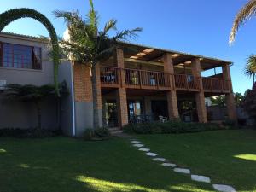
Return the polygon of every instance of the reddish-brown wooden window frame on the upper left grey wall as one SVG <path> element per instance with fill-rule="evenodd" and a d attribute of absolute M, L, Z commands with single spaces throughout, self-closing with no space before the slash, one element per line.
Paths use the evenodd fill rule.
<path fill-rule="evenodd" d="M 18 46 L 24 46 L 24 47 L 27 47 L 27 48 L 30 48 L 31 49 L 31 60 L 32 60 L 32 67 L 15 67 L 14 66 L 14 53 L 13 53 L 13 56 L 12 56 L 12 67 L 6 67 L 6 66 L 3 66 L 3 44 L 11 44 L 12 46 L 14 45 L 18 45 Z M 14 51 L 14 48 L 12 47 L 13 51 Z M 38 65 L 38 67 L 35 67 L 37 64 L 35 62 L 35 54 L 34 54 L 34 49 L 39 49 L 39 52 L 40 52 L 40 63 Z M 6 68 L 12 68 L 12 69 L 24 69 L 24 70 L 42 70 L 42 48 L 41 47 L 37 47 L 37 46 L 31 46 L 31 45 L 25 45 L 25 44 L 12 44 L 12 43 L 8 43 L 8 42 L 2 42 L 0 41 L 0 58 L 1 58 L 1 61 L 0 61 L 0 67 L 6 67 Z"/>

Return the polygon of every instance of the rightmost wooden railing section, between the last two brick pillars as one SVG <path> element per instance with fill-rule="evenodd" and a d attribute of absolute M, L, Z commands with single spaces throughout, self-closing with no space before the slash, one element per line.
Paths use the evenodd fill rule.
<path fill-rule="evenodd" d="M 229 87 L 229 80 L 227 79 L 218 79 L 218 78 L 202 78 L 203 88 L 204 90 L 209 91 L 228 91 L 230 90 Z"/>

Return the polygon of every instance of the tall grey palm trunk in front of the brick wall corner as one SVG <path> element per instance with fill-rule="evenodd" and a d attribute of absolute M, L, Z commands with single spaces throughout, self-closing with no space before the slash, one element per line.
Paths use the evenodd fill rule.
<path fill-rule="evenodd" d="M 93 128 L 96 129 L 100 126 L 98 100 L 97 100 L 96 64 L 93 64 L 91 67 L 91 86 L 92 86 L 92 101 L 93 101 Z"/>

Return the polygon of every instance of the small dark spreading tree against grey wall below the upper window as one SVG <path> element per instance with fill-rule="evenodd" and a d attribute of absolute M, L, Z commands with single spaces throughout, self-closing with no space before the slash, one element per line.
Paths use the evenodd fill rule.
<path fill-rule="evenodd" d="M 41 129 L 42 119 L 42 106 L 41 102 L 47 96 L 55 96 L 55 85 L 45 84 L 36 86 L 34 84 L 7 84 L 3 93 L 4 97 L 8 100 L 18 102 L 32 102 L 37 108 L 38 115 L 38 129 Z"/>

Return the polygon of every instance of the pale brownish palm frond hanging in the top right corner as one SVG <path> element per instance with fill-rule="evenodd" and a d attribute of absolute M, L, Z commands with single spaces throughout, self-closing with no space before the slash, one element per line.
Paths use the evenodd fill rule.
<path fill-rule="evenodd" d="M 256 0 L 250 0 L 236 15 L 231 32 L 230 32 L 230 44 L 235 41 L 236 33 L 240 26 L 245 24 L 253 15 L 256 14 Z"/>

